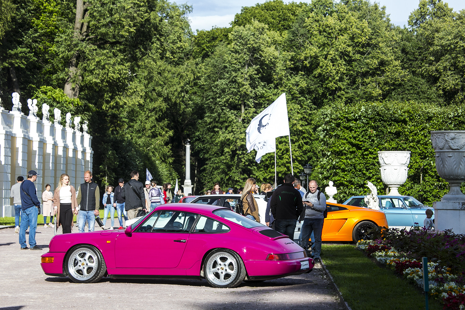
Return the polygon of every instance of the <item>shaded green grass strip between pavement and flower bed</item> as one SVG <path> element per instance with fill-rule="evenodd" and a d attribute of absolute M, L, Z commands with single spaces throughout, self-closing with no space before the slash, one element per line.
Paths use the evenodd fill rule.
<path fill-rule="evenodd" d="M 352 310 L 420 310 L 425 296 L 418 287 L 379 267 L 350 244 L 323 244 L 322 259 Z M 429 299 L 429 309 L 444 304 Z"/>

